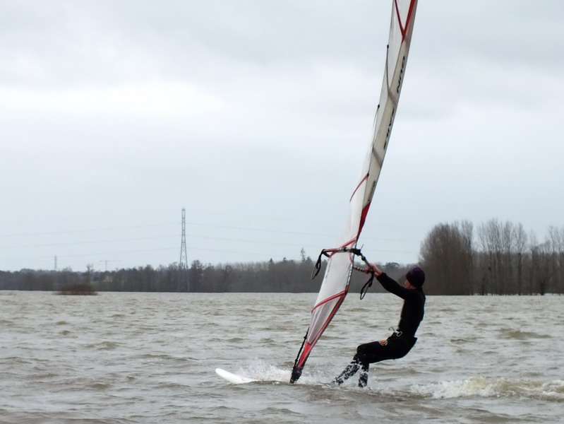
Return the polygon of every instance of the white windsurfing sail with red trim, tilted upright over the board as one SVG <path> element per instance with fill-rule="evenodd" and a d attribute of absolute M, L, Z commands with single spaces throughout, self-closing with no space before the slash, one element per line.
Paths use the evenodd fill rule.
<path fill-rule="evenodd" d="M 349 213 L 336 247 L 324 249 L 329 259 L 325 276 L 319 290 L 311 322 L 294 363 L 290 382 L 301 376 L 311 349 L 316 345 L 323 331 L 337 313 L 349 290 L 349 282 L 354 267 L 354 257 L 361 255 L 356 248 L 360 233 L 372 202 L 376 182 L 384 161 L 390 133 L 397 111 L 397 102 L 404 79 L 409 44 L 412 38 L 417 0 L 392 0 L 392 21 L 384 69 L 380 102 L 376 110 L 373 139 L 362 167 L 360 182 L 355 187 L 349 201 Z M 321 258 L 321 255 L 320 255 Z M 366 262 L 366 259 L 361 256 Z"/>

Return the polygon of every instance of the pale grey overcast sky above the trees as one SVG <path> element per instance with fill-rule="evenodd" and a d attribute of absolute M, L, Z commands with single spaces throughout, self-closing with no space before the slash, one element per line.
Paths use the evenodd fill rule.
<path fill-rule="evenodd" d="M 0 270 L 317 257 L 371 141 L 390 0 L 0 0 Z M 420 0 L 360 243 L 564 227 L 564 3 Z"/>

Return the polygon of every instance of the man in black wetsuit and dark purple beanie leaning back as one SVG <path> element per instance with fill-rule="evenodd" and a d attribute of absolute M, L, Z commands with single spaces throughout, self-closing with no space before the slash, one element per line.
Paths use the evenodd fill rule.
<path fill-rule="evenodd" d="M 425 282 L 424 271 L 419 266 L 411 269 L 407 273 L 404 287 L 402 287 L 383 273 L 378 266 L 371 264 L 371 268 L 383 288 L 404 300 L 400 324 L 397 325 L 397 330 L 387 340 L 373 341 L 356 348 L 356 355 L 352 358 L 352 363 L 344 369 L 339 377 L 333 380 L 333 383 L 336 384 L 344 383 L 346 379 L 352 377 L 361 369 L 359 387 L 366 387 L 366 384 L 368 384 L 368 367 L 371 363 L 403 358 L 417 341 L 415 332 L 423 319 L 425 308 L 425 293 L 421 288 Z"/>

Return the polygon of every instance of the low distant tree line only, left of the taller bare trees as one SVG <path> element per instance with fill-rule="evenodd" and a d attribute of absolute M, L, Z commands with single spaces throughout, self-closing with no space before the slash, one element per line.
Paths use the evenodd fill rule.
<path fill-rule="evenodd" d="M 302 251 L 303 252 L 303 251 Z M 193 292 L 193 293 L 316 293 L 327 262 L 322 261 L 319 275 L 311 278 L 314 262 L 310 257 L 299 261 L 203 264 L 193 261 L 189 269 L 177 263 L 169 266 L 143 266 L 116 271 L 85 272 L 71 269 L 42 271 L 24 269 L 16 272 L 0 271 L 0 290 L 47 290 L 64 293 L 66 288 L 88 284 L 93 290 L 125 292 Z M 396 263 L 385 264 L 384 269 L 395 278 L 407 272 Z M 351 291 L 360 291 L 368 281 L 364 273 L 354 272 Z M 381 290 L 378 283 L 372 290 Z"/>

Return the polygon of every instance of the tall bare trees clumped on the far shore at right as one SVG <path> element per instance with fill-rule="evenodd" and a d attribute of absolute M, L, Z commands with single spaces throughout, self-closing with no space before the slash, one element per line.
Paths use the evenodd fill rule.
<path fill-rule="evenodd" d="M 421 263 L 446 295 L 564 293 L 564 228 L 549 227 L 543 242 L 521 224 L 488 220 L 474 231 L 462 222 L 436 225 L 421 244 Z"/>

